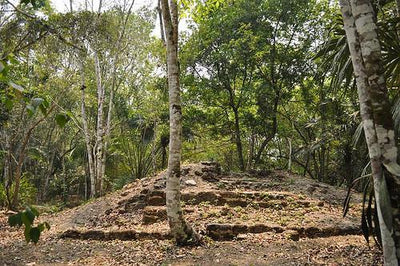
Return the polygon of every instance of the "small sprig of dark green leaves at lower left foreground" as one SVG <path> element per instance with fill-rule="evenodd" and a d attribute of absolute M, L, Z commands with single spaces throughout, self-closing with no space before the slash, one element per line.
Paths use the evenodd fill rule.
<path fill-rule="evenodd" d="M 40 238 L 40 234 L 45 230 L 50 230 L 50 225 L 47 222 L 39 223 L 34 226 L 34 220 L 39 216 L 39 212 L 30 206 L 27 206 L 24 211 L 8 217 L 8 224 L 10 226 L 25 226 L 24 236 L 27 243 L 37 243 Z"/>

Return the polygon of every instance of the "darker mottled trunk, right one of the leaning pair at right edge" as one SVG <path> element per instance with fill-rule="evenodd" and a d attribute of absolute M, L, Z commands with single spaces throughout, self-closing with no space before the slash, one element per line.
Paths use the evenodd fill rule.
<path fill-rule="evenodd" d="M 390 184 L 388 190 L 392 205 L 391 214 L 393 216 L 392 237 L 396 247 L 397 261 L 400 262 L 400 166 L 397 164 L 398 149 L 394 135 L 391 104 L 384 76 L 385 70 L 383 68 L 375 14 L 370 1 L 352 1 L 351 7 L 355 25 L 360 35 L 361 54 L 370 86 L 375 130 L 378 144 L 381 148 L 381 162 L 385 170 L 388 170 L 388 172 L 385 171 L 385 177 L 386 182 Z"/>

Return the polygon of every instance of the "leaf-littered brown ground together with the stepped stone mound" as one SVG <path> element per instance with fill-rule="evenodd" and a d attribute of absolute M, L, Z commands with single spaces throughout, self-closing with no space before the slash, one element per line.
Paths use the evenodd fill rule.
<path fill-rule="evenodd" d="M 381 265 L 360 232 L 361 197 L 346 218 L 346 191 L 285 171 L 221 173 L 215 163 L 182 167 L 186 219 L 203 236 L 176 247 L 168 233 L 165 172 L 76 208 L 43 214 L 37 245 L 0 212 L 2 265 Z"/>

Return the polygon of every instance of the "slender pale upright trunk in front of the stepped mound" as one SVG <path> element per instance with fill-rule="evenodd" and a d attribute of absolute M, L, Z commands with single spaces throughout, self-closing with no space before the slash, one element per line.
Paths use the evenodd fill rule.
<path fill-rule="evenodd" d="M 180 161 L 182 146 L 182 109 L 178 65 L 178 7 L 175 0 L 161 0 L 167 46 L 170 141 L 166 205 L 168 222 L 176 243 L 197 243 L 199 237 L 185 221 L 180 203 Z"/>

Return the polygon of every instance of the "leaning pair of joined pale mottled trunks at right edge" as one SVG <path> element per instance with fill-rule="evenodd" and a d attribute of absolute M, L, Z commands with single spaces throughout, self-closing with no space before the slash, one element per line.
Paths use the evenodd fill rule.
<path fill-rule="evenodd" d="M 387 187 L 383 166 L 398 175 L 397 148 L 394 142 L 393 121 L 381 65 L 380 44 L 376 34 L 374 13 L 370 1 L 340 0 L 344 28 L 356 77 L 360 113 L 368 145 L 374 180 L 375 199 L 382 236 L 385 265 L 398 265 L 399 231 L 397 186 Z M 393 182 L 396 184 L 396 182 Z M 393 203 L 393 200 L 392 200 Z M 398 199 L 397 199 L 397 204 Z M 392 207 L 394 209 L 392 210 Z M 393 216 L 393 213 L 395 214 Z M 393 219 L 394 218 L 394 219 Z M 396 252 L 397 248 L 397 252 Z M 397 253 L 397 254 L 396 254 Z"/>

